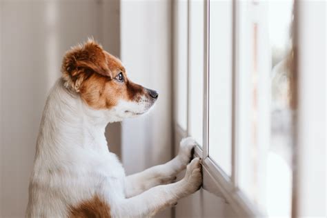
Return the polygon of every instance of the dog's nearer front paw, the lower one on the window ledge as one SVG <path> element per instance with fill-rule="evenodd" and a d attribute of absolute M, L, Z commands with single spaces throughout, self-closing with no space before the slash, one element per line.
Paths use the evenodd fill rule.
<path fill-rule="evenodd" d="M 188 194 L 199 190 L 202 184 L 202 170 L 201 159 L 198 157 L 192 159 L 186 168 L 186 175 L 184 181 L 186 182 L 186 190 Z"/>

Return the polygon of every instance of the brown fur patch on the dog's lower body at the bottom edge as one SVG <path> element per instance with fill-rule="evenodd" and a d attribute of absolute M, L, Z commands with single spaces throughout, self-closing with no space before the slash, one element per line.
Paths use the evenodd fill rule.
<path fill-rule="evenodd" d="M 70 218 L 110 218 L 110 206 L 97 195 L 70 208 Z"/>

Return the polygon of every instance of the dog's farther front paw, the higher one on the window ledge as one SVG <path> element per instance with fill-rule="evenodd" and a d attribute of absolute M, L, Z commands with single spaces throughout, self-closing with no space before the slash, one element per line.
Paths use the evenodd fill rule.
<path fill-rule="evenodd" d="M 197 145 L 197 142 L 192 137 L 187 137 L 185 139 L 181 139 L 181 143 L 179 144 L 178 156 L 179 156 L 179 159 L 181 159 L 181 163 L 183 165 L 186 166 L 192 160 L 194 148 L 196 145 Z"/>

